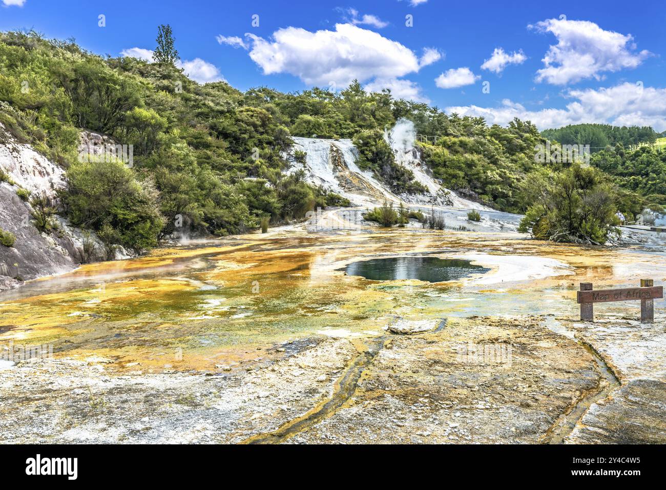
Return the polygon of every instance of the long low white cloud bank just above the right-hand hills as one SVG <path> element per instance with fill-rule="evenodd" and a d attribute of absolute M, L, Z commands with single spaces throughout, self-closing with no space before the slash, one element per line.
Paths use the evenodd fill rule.
<path fill-rule="evenodd" d="M 447 107 L 448 113 L 485 117 L 490 124 L 505 125 L 514 117 L 532 121 L 539 129 L 567 124 L 606 123 L 617 126 L 652 126 L 655 131 L 666 130 L 666 89 L 643 87 L 641 84 L 621 83 L 614 87 L 570 90 L 571 99 L 563 109 L 529 111 L 519 103 L 504 99 L 499 107 L 476 105 Z"/>

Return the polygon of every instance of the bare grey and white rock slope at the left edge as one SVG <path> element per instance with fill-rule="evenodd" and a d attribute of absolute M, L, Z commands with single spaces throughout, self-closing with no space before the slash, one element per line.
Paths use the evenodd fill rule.
<path fill-rule="evenodd" d="M 102 138 L 95 133 L 82 134 L 82 144 Z M 106 260 L 101 240 L 71 226 L 63 217 L 54 217 L 54 231 L 39 232 L 32 222 L 31 205 L 17 191 L 25 189 L 31 195 L 55 199 L 57 189 L 65 186 L 65 171 L 30 145 L 19 143 L 1 124 L 0 141 L 0 169 L 9 177 L 0 183 L 0 229 L 16 237 L 13 247 L 0 244 L 0 291 L 21 281 L 71 271 L 85 261 Z M 89 253 L 84 252 L 91 247 Z M 111 258 L 126 257 L 129 254 L 120 248 Z"/>

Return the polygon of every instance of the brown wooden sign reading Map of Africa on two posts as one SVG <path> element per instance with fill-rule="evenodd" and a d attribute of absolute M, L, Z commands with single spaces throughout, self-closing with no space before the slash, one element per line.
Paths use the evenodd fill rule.
<path fill-rule="evenodd" d="M 641 287 L 625 289 L 598 289 L 594 291 L 592 283 L 581 283 L 577 291 L 577 302 L 581 305 L 581 320 L 594 321 L 594 303 L 607 301 L 641 301 L 641 323 L 655 321 L 654 299 L 663 298 L 663 287 L 655 286 L 652 279 L 641 279 Z"/>

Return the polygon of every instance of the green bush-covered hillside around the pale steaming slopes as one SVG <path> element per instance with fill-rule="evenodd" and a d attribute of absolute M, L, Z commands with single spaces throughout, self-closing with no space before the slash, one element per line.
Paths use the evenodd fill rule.
<path fill-rule="evenodd" d="M 302 175 L 284 173 L 304 156 L 293 150 L 292 135 L 354 139 L 360 165 L 396 191 L 418 192 L 420 185 L 396 164 L 383 139 L 384 129 L 403 117 L 418 133 L 438 137 L 422 148 L 446 187 L 502 211 L 525 212 L 537 200 L 529 184 L 545 179 L 554 185 L 571 165 L 535 159 L 535 146 L 545 139 L 528 121 L 488 126 L 483 118 L 446 114 L 388 91 L 366 93 L 356 81 L 339 93 L 316 87 L 242 92 L 224 82 L 200 85 L 166 61 L 101 57 L 74 41 L 0 33 L 0 122 L 67 169 L 69 187 L 53 203 L 59 213 L 109 243 L 135 249 L 157 245 L 174 230 L 176 216 L 193 233 L 226 235 L 255 229 L 262 219 L 284 223 L 314 207 L 345 205 Z M 81 129 L 133 145 L 133 167 L 79 161 Z M 594 131 L 602 137 L 599 145 L 654 133 Z M 613 209 L 635 214 L 649 199 L 663 203 L 665 153 L 602 153 L 594 165 L 612 177 L 589 177 L 593 185 L 603 184 Z M 577 199 L 576 206 L 587 206 Z M 581 219 L 567 226 L 582 226 Z"/>

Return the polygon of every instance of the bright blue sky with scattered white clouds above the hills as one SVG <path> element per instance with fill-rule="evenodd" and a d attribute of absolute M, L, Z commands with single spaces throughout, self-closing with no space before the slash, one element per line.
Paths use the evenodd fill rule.
<path fill-rule="evenodd" d="M 198 81 L 300 91 L 358 78 L 489 122 L 666 130 L 662 2 L 0 0 L 0 30 L 99 54 L 149 56 L 161 23 Z"/>

